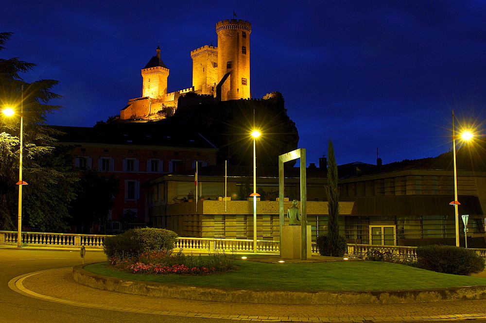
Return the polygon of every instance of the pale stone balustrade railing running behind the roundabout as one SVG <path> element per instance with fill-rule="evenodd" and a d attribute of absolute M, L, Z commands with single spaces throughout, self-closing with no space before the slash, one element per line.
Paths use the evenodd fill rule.
<path fill-rule="evenodd" d="M 36 247 L 81 247 L 102 249 L 103 240 L 107 235 L 81 235 L 69 233 L 22 232 L 22 244 Z M 0 231 L 0 244 L 17 244 L 17 231 Z M 257 252 L 265 254 L 278 254 L 279 242 L 275 240 L 257 240 Z M 225 239 L 225 238 L 184 238 L 179 237 L 174 250 L 185 251 L 225 251 L 236 253 L 252 253 L 253 240 Z M 381 253 L 390 252 L 400 259 L 416 260 L 417 247 L 407 246 L 380 246 L 368 244 L 347 244 L 347 256 L 352 258 L 365 258 L 374 250 Z M 478 255 L 486 258 L 486 249 L 473 249 Z M 312 253 L 318 254 L 317 245 L 312 242 Z"/>

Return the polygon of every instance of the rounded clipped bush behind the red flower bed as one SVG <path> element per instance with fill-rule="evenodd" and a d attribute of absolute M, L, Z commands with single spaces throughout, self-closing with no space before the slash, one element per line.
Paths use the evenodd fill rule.
<path fill-rule="evenodd" d="M 106 237 L 103 241 L 104 253 L 108 258 L 116 255 L 122 258 L 137 257 L 149 251 L 172 253 L 177 234 L 174 231 L 156 228 L 128 230 L 120 235 Z"/>

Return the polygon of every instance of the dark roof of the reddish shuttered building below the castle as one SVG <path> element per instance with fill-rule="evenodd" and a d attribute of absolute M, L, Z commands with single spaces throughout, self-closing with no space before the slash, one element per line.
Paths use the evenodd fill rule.
<path fill-rule="evenodd" d="M 115 145 L 142 145 L 216 150 L 206 138 L 198 133 L 165 132 L 161 127 L 150 127 L 147 123 L 127 123 L 95 127 L 52 126 L 64 134 L 56 139 L 66 143 L 99 143 Z"/>

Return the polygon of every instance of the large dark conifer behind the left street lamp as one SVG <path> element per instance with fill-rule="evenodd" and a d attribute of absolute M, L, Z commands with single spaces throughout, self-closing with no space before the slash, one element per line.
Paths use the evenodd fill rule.
<path fill-rule="evenodd" d="M 4 45 L 12 33 L 0 33 Z M 3 46 L 0 46 L 0 50 Z M 48 104 L 61 98 L 53 93 L 54 80 L 25 82 L 21 73 L 35 67 L 17 57 L 0 58 L 0 106 L 10 106 L 17 113 L 0 117 L 0 229 L 13 230 L 17 222 L 20 107 L 23 110 L 23 224 L 42 231 L 65 231 L 68 205 L 74 197 L 76 182 L 67 151 L 54 148 L 58 132 L 46 124 L 46 116 L 61 108 Z"/>

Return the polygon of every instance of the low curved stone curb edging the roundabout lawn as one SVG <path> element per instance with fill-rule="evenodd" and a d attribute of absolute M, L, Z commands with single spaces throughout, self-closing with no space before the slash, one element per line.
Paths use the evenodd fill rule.
<path fill-rule="evenodd" d="M 254 304 L 345 305 L 448 302 L 486 299 L 486 286 L 373 291 L 237 289 L 229 287 L 177 285 L 120 279 L 88 272 L 83 269 L 86 265 L 78 265 L 74 267 L 72 269 L 72 276 L 77 283 L 91 288 L 141 296 L 197 301 Z"/>

